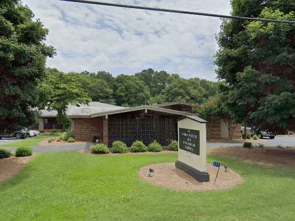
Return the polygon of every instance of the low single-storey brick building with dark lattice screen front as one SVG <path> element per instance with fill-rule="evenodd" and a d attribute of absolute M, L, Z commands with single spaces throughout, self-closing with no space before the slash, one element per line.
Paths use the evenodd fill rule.
<path fill-rule="evenodd" d="M 114 141 L 123 141 L 130 146 L 135 140 L 149 144 L 157 140 L 161 145 L 168 145 L 170 140 L 177 140 L 177 119 L 182 116 L 196 116 L 194 104 L 173 102 L 152 106 L 120 107 L 100 102 L 88 105 L 69 106 L 67 117 L 73 121 L 75 140 L 89 142 L 92 136 L 109 147 Z M 42 110 L 39 129 L 51 131 L 59 129 L 57 113 Z M 212 125 L 212 126 L 211 126 Z M 222 121 L 209 122 L 210 137 L 215 140 L 228 138 L 227 128 Z M 214 134 L 214 136 L 212 134 Z M 227 137 L 226 137 L 227 136 Z M 240 132 L 234 139 L 240 138 Z"/>

